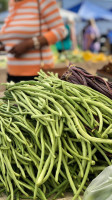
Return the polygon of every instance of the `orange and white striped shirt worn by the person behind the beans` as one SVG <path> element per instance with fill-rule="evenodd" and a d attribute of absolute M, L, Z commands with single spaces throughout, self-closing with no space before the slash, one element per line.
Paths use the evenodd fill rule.
<path fill-rule="evenodd" d="M 42 48 L 44 68 L 54 66 L 50 45 L 65 37 L 66 31 L 55 0 L 39 0 L 41 10 L 41 31 L 49 46 Z M 25 39 L 40 34 L 37 0 L 10 0 L 9 16 L 0 32 L 0 41 L 8 52 Z M 20 58 L 8 53 L 8 73 L 12 76 L 35 76 L 41 68 L 39 50 L 30 50 Z"/>

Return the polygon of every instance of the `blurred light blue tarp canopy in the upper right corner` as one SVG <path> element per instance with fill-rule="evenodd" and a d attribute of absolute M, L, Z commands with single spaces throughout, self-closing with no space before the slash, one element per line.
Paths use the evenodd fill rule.
<path fill-rule="evenodd" d="M 79 9 L 78 15 L 84 19 L 105 19 L 112 20 L 112 13 L 102 7 L 97 6 L 96 4 L 91 3 L 90 1 L 85 1 L 81 8 Z"/>

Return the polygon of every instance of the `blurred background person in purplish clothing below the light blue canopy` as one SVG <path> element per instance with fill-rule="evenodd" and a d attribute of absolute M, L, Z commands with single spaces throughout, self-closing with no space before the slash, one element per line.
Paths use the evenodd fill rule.
<path fill-rule="evenodd" d="M 92 52 L 100 51 L 100 37 L 99 30 L 95 24 L 95 21 L 89 20 L 86 27 L 83 29 L 83 49 L 90 50 Z"/>

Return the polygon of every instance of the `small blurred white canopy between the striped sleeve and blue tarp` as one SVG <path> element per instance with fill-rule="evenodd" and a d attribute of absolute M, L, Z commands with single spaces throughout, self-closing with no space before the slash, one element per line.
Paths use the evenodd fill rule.
<path fill-rule="evenodd" d="M 70 20 L 78 18 L 78 15 L 76 13 L 64 9 L 60 9 L 60 14 L 63 18 L 68 18 Z"/>

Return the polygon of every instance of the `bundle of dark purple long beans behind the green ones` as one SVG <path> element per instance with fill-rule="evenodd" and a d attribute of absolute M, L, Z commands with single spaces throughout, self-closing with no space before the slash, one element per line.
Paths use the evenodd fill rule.
<path fill-rule="evenodd" d="M 93 76 L 83 68 L 70 65 L 61 79 L 70 83 L 89 86 L 112 99 L 112 82 L 105 81 L 100 76 Z"/>

